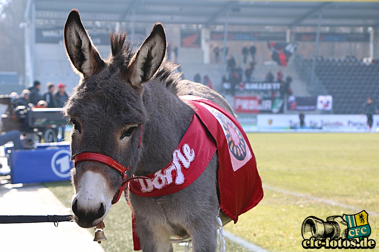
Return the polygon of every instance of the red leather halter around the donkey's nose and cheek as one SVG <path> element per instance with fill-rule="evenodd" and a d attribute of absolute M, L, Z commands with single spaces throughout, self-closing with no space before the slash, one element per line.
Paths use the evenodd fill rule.
<path fill-rule="evenodd" d="M 139 136 L 138 148 L 141 147 L 141 140 L 142 140 L 142 125 L 141 125 L 141 135 Z M 117 171 L 119 171 L 121 173 L 122 182 L 121 182 L 121 185 L 118 188 L 116 194 L 114 194 L 114 196 L 113 196 L 112 205 L 116 204 L 119 201 L 121 194 L 122 194 L 122 191 L 125 190 L 128 183 L 130 182 L 130 180 L 146 179 L 146 177 L 131 177 L 131 178 L 127 179 L 127 175 L 125 174 L 125 172 L 127 170 L 129 170 L 129 166 L 125 167 L 124 165 L 122 165 L 121 163 L 112 159 L 111 157 L 105 156 L 105 155 L 100 154 L 100 153 L 82 152 L 82 153 L 77 154 L 74 158 L 74 167 L 76 167 L 78 165 L 78 163 L 84 162 L 84 161 L 92 161 L 92 162 L 102 163 L 104 165 L 111 166 L 112 168 L 116 169 Z"/>

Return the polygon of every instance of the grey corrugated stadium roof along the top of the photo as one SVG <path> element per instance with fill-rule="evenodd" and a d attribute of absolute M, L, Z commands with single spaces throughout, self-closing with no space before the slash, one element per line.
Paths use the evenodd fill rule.
<path fill-rule="evenodd" d="M 379 2 L 222 0 L 35 0 L 36 19 L 64 23 L 71 9 L 84 21 L 252 26 L 378 26 Z M 133 11 L 134 10 L 134 11 Z"/>

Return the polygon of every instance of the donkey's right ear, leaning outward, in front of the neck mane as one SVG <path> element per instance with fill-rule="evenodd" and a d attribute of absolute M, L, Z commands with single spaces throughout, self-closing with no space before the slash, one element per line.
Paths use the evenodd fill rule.
<path fill-rule="evenodd" d="M 133 55 L 127 68 L 127 78 L 137 91 L 141 84 L 157 72 L 166 54 L 166 34 L 161 23 L 155 23 L 149 37 Z"/>

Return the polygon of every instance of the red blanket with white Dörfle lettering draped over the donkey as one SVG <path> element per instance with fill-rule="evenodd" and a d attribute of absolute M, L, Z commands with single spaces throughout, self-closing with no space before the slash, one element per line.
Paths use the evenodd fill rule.
<path fill-rule="evenodd" d="M 198 96 L 181 98 L 193 107 L 196 116 L 173 152 L 171 162 L 148 175 L 150 179 L 132 180 L 129 190 L 143 197 L 180 191 L 200 176 L 217 149 L 220 208 L 237 222 L 240 214 L 263 198 L 262 182 L 249 140 L 238 121 L 217 104 Z M 216 140 L 216 146 L 203 124 Z M 134 224 L 133 220 L 134 249 L 140 250 Z"/>

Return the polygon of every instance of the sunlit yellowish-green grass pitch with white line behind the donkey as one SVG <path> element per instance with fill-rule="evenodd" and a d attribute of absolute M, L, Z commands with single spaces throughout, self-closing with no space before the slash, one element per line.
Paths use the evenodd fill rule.
<path fill-rule="evenodd" d="M 248 137 L 263 184 L 379 213 L 379 134 L 251 133 Z M 68 182 L 45 186 L 70 206 L 73 191 Z M 325 220 L 343 213 L 356 212 L 265 189 L 257 207 L 225 229 L 269 251 L 304 251 L 301 224 L 307 216 Z M 368 220 L 370 239 L 379 242 L 379 217 L 369 215 Z M 113 205 L 105 222 L 108 240 L 102 243 L 104 249 L 132 251 L 126 202 Z M 184 251 L 179 246 L 174 250 Z M 247 250 L 227 241 L 227 251 Z"/>

